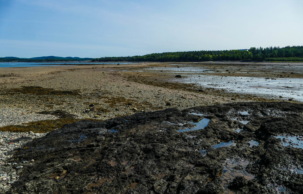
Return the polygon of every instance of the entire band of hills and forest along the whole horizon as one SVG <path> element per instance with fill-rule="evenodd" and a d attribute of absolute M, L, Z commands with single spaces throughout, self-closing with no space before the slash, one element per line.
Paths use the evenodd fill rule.
<path fill-rule="evenodd" d="M 203 62 L 203 61 L 303 61 L 303 46 L 287 47 L 266 47 L 238 50 L 200 50 L 200 51 L 180 51 L 151 53 L 146 55 L 135 55 L 128 57 L 100 57 L 100 58 L 80 58 L 80 57 L 3 57 L 0 62 L 55 62 L 55 61 L 92 61 L 92 62 L 113 62 L 113 61 L 148 61 L 148 62 Z"/>

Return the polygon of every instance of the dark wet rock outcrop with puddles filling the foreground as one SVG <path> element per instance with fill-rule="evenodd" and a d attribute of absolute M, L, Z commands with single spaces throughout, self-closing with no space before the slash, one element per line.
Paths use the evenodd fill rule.
<path fill-rule="evenodd" d="M 303 193 L 302 135 L 288 102 L 76 121 L 12 151 L 8 193 Z"/>

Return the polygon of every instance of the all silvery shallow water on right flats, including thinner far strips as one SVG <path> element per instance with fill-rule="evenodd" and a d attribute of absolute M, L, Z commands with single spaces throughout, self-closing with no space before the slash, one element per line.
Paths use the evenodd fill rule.
<path fill-rule="evenodd" d="M 172 64 L 174 65 L 174 64 Z M 206 88 L 224 89 L 227 91 L 233 91 L 243 94 L 257 94 L 267 98 L 279 98 L 281 95 L 283 98 L 294 98 L 299 101 L 303 101 L 303 79 L 300 78 L 264 78 L 262 77 L 240 77 L 235 75 L 230 76 L 218 76 L 208 75 L 207 73 L 226 73 L 228 71 L 222 71 L 222 69 L 207 68 L 199 66 L 186 66 L 176 64 L 177 67 L 163 67 L 163 68 L 148 68 L 147 70 L 163 71 L 163 73 L 180 73 L 183 78 L 176 79 L 177 82 L 193 83 Z M 280 66 L 281 67 L 281 66 Z M 282 66 L 281 68 L 285 68 Z M 245 69 L 251 68 L 251 70 L 241 70 L 238 67 L 227 67 L 229 70 L 234 69 L 230 73 L 255 73 L 254 67 L 245 67 Z M 272 68 L 272 67 L 271 67 Z M 302 66 L 297 66 L 297 69 L 301 69 Z M 266 68 L 265 68 L 266 69 Z M 280 69 L 281 70 L 281 69 Z M 285 69 L 287 71 L 289 69 Z M 282 73 L 276 74 L 285 74 Z M 198 73 L 197 75 L 192 75 Z M 260 73 L 260 72 L 258 72 Z M 186 77 L 185 77 L 186 76 Z"/>

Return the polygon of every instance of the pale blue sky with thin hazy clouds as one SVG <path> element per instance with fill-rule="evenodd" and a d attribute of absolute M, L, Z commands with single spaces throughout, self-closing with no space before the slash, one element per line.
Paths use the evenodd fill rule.
<path fill-rule="evenodd" d="M 303 45 L 301 0 L 0 0 L 0 57 Z"/>

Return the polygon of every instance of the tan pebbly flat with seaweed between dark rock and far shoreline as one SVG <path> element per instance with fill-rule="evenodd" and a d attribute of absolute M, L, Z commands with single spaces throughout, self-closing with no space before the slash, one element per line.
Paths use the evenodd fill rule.
<path fill-rule="evenodd" d="M 171 64 L 134 63 L 120 66 L 104 64 L 2 68 L 0 103 L 2 104 L 1 112 L 5 112 L 5 116 L 2 115 L 0 126 L 41 120 L 43 117 L 50 118 L 49 115 L 36 114 L 41 111 L 64 110 L 77 115 L 80 119 L 104 120 L 115 116 L 130 115 L 141 110 L 154 111 L 168 107 L 182 110 L 226 102 L 288 101 L 288 98 L 239 94 L 226 89 L 202 87 L 195 83 L 182 82 L 182 79 L 186 78 L 182 72 L 153 70 L 178 68 L 178 65 Z M 180 67 L 207 67 L 207 71 L 203 74 L 226 76 L 231 80 L 233 76 L 276 78 L 281 75 L 286 78 L 302 78 L 303 68 L 292 68 L 288 72 L 285 72 L 285 68 L 283 69 L 285 66 L 298 65 L 302 64 L 180 63 Z M 181 74 L 184 78 L 175 78 L 177 74 Z M 198 73 L 195 74 L 198 76 Z M 204 80 L 204 82 L 208 81 Z M 31 90 L 32 86 L 42 88 Z M 167 106 L 167 103 L 170 106 Z M 91 104 L 95 106 L 89 107 Z M 134 108 L 137 110 L 133 110 Z M 33 115 L 38 118 L 35 119 Z M 10 118 L 10 121 L 5 118 Z M 18 121 L 14 118 L 18 118 Z"/>

